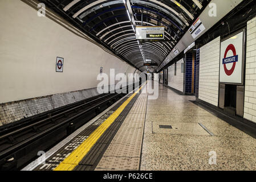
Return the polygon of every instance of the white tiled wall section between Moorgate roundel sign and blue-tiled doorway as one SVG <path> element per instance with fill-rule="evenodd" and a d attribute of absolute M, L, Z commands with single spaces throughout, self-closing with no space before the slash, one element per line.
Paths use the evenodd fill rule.
<path fill-rule="evenodd" d="M 220 37 L 200 48 L 199 99 L 218 106 Z"/>

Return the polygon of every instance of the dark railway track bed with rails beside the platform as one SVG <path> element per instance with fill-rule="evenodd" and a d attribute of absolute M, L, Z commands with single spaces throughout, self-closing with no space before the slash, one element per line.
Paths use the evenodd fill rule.
<path fill-rule="evenodd" d="M 0 169 L 21 169 L 124 95 L 101 94 L 0 127 Z"/>

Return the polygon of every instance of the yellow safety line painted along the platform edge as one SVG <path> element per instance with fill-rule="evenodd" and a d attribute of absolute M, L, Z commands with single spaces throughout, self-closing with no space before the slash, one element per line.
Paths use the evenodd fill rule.
<path fill-rule="evenodd" d="M 144 84 L 145 85 L 145 84 Z M 144 86 L 143 85 L 143 86 Z M 143 88 L 141 86 L 141 88 Z M 141 90 L 137 90 L 132 94 L 111 116 L 109 116 L 97 129 L 86 139 L 78 148 L 76 148 L 71 154 L 63 160 L 62 163 L 57 166 L 54 171 L 72 171 L 79 162 L 87 155 L 101 135 L 108 129 L 108 127 L 115 121 L 124 108 L 129 104 L 133 97 Z"/>

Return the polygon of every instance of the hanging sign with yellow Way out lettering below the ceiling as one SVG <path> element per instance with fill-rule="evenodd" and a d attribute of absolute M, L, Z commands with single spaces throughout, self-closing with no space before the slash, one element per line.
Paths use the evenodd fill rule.
<path fill-rule="evenodd" d="M 136 27 L 137 40 L 164 40 L 164 27 L 143 26 Z"/>

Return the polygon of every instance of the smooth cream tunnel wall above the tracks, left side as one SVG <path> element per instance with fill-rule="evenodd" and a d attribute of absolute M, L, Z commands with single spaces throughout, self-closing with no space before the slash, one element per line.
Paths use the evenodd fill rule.
<path fill-rule="evenodd" d="M 100 67 L 108 75 L 135 72 L 22 1 L 0 1 L 0 16 L 0 103 L 95 88 Z M 63 73 L 55 72 L 57 56 Z"/>

